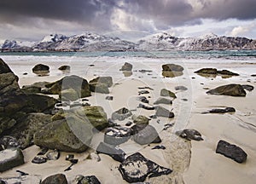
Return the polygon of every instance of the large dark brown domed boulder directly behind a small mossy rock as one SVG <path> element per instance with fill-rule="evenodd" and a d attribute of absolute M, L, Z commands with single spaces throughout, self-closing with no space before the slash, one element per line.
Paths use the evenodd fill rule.
<path fill-rule="evenodd" d="M 61 80 L 55 83 L 49 83 L 45 85 L 47 89 L 46 93 L 53 95 L 61 95 L 61 91 L 65 89 L 74 89 L 79 98 L 84 98 L 90 96 L 89 83 L 78 76 L 67 76 L 61 78 Z"/>

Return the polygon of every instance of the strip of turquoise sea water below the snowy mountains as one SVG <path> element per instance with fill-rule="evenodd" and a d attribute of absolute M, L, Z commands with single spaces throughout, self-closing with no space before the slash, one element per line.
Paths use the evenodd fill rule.
<path fill-rule="evenodd" d="M 256 50 L 231 50 L 231 51 L 125 51 L 125 52 L 24 52 L 24 53 L 0 53 L 1 55 L 20 55 L 20 56 L 77 56 L 77 57 L 149 57 L 149 58 L 226 58 L 226 59 L 256 59 Z"/>

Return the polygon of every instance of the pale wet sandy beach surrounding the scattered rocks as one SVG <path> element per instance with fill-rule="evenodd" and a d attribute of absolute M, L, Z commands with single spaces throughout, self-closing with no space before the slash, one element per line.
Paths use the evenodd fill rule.
<path fill-rule="evenodd" d="M 96 77 L 111 76 L 113 86 L 109 88 L 108 95 L 113 96 L 113 101 L 106 101 L 108 95 L 92 93 L 86 99 L 92 106 L 102 106 L 108 118 L 119 108 L 126 107 L 132 110 L 132 114 L 149 117 L 154 115 L 154 110 L 137 108 L 138 93 L 143 87 L 150 87 L 149 93 L 143 96 L 148 98 L 149 105 L 153 105 L 160 97 L 160 89 L 169 89 L 177 95 L 172 106 L 161 105 L 174 112 L 174 118 L 151 119 L 150 123 L 158 131 L 162 142 L 140 146 L 134 141 L 127 141 L 119 147 L 126 155 L 141 152 L 145 158 L 154 161 L 172 171 L 170 175 L 147 178 L 145 182 L 153 183 L 186 183 L 186 184 L 213 184 L 232 183 L 253 184 L 256 180 L 256 90 L 248 92 L 246 97 L 233 97 L 225 95 L 207 95 L 208 89 L 230 83 L 249 84 L 256 87 L 255 60 L 169 60 L 154 58 L 125 58 L 125 57 L 99 57 L 99 58 L 40 58 L 26 57 L 15 58 L 3 56 L 2 59 L 9 65 L 15 75 L 19 77 L 20 88 L 37 82 L 55 82 L 67 75 L 78 75 L 90 81 Z M 132 74 L 125 77 L 119 69 L 125 62 L 132 64 Z M 49 76 L 38 77 L 32 73 L 32 67 L 38 63 L 49 66 Z M 183 75 L 176 78 L 164 78 L 162 76 L 163 64 L 175 63 L 184 67 Z M 61 72 L 59 66 L 71 66 L 70 72 Z M 93 65 L 93 66 L 92 66 Z M 205 78 L 194 73 L 201 68 L 214 67 L 219 70 L 236 72 L 239 76 L 231 78 Z M 141 71 L 141 70 L 144 70 Z M 146 71 L 146 72 L 145 72 Z M 147 72 L 150 71 L 150 72 Z M 26 75 L 23 75 L 27 72 Z M 177 86 L 185 86 L 188 90 L 176 90 Z M 184 100 L 185 99 L 185 100 Z M 212 108 L 234 107 L 236 112 L 224 114 L 202 114 Z M 130 121 L 131 117 L 128 119 Z M 125 125 L 127 121 L 118 122 Z M 163 130 L 165 124 L 174 124 L 171 128 Z M 178 137 L 175 132 L 183 129 L 198 130 L 203 141 L 187 141 Z M 102 140 L 102 133 L 93 139 L 90 149 L 86 152 L 75 153 L 79 163 L 73 165 L 72 170 L 64 171 L 70 165 L 65 160 L 67 152 L 61 152 L 61 157 L 56 161 L 48 161 L 45 164 L 32 164 L 39 152 L 39 147 L 32 146 L 23 150 L 25 164 L 0 174 L 1 178 L 18 176 L 16 170 L 22 170 L 29 175 L 38 175 L 45 179 L 49 175 L 62 173 L 67 176 L 67 181 L 75 183 L 76 175 L 96 175 L 102 184 L 127 183 L 120 175 L 119 162 L 108 155 L 99 154 L 101 161 L 89 159 L 89 155 L 95 152 L 96 146 Z M 247 161 L 236 163 L 215 152 L 218 141 L 224 140 L 247 152 Z M 166 149 L 152 149 L 156 145 L 163 145 Z"/>

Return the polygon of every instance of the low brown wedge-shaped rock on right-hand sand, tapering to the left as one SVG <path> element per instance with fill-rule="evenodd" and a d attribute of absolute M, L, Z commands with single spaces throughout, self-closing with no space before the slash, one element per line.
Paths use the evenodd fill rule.
<path fill-rule="evenodd" d="M 240 84 L 228 84 L 220 86 L 216 89 L 211 89 L 207 91 L 210 95 L 230 95 L 230 96 L 246 96 L 246 91 L 242 88 Z"/>

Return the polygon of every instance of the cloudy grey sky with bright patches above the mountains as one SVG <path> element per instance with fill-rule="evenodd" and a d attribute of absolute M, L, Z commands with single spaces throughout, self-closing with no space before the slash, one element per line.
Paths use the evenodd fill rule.
<path fill-rule="evenodd" d="M 0 40 L 83 32 L 131 41 L 158 32 L 256 39 L 255 7 L 256 0 L 1 0 Z"/>

